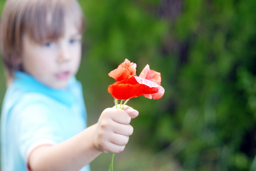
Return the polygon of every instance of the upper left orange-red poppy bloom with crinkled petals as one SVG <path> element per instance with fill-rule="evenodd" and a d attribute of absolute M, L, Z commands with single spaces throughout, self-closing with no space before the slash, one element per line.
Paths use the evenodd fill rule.
<path fill-rule="evenodd" d="M 125 62 L 119 64 L 117 69 L 109 72 L 109 76 L 117 80 L 117 82 L 129 79 L 136 75 L 136 67 L 137 65 L 135 63 L 131 63 L 130 60 L 125 59 Z"/>

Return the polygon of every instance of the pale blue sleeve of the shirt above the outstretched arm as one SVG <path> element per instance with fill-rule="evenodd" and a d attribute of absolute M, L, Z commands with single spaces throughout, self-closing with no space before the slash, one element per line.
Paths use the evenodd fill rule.
<path fill-rule="evenodd" d="M 59 130 L 51 115 L 53 113 L 42 101 L 21 103 L 14 109 L 15 139 L 25 163 L 31 151 L 40 145 L 59 142 Z"/>

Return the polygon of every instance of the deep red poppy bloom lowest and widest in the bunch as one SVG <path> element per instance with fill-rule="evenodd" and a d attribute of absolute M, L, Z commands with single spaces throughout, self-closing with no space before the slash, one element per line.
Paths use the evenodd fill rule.
<path fill-rule="evenodd" d="M 127 100 L 133 97 L 141 96 L 142 94 L 157 93 L 159 89 L 158 87 L 149 87 L 146 84 L 140 84 L 133 76 L 130 79 L 122 80 L 111 84 L 107 91 L 115 99 Z"/>

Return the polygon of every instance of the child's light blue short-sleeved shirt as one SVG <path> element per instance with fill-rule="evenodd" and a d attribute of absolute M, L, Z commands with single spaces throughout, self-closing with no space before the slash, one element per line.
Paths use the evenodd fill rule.
<path fill-rule="evenodd" d="M 82 86 L 75 78 L 67 89 L 53 89 L 15 72 L 2 105 L 1 169 L 27 170 L 27 157 L 35 146 L 65 141 L 83 131 L 86 121 Z M 89 170 L 89 165 L 81 169 Z"/>

